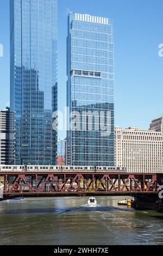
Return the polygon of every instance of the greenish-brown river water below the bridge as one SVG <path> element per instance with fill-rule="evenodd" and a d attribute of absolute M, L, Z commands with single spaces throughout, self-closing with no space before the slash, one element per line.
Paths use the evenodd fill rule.
<path fill-rule="evenodd" d="M 1 245 L 163 245 L 163 214 L 118 206 L 124 197 L 27 198 L 0 203 Z"/>

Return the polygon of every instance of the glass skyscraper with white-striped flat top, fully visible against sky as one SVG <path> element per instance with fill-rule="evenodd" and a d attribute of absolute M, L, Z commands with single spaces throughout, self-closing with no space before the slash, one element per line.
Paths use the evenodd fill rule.
<path fill-rule="evenodd" d="M 70 13 L 67 76 L 70 115 L 67 164 L 114 166 L 114 40 L 111 19 Z"/>

